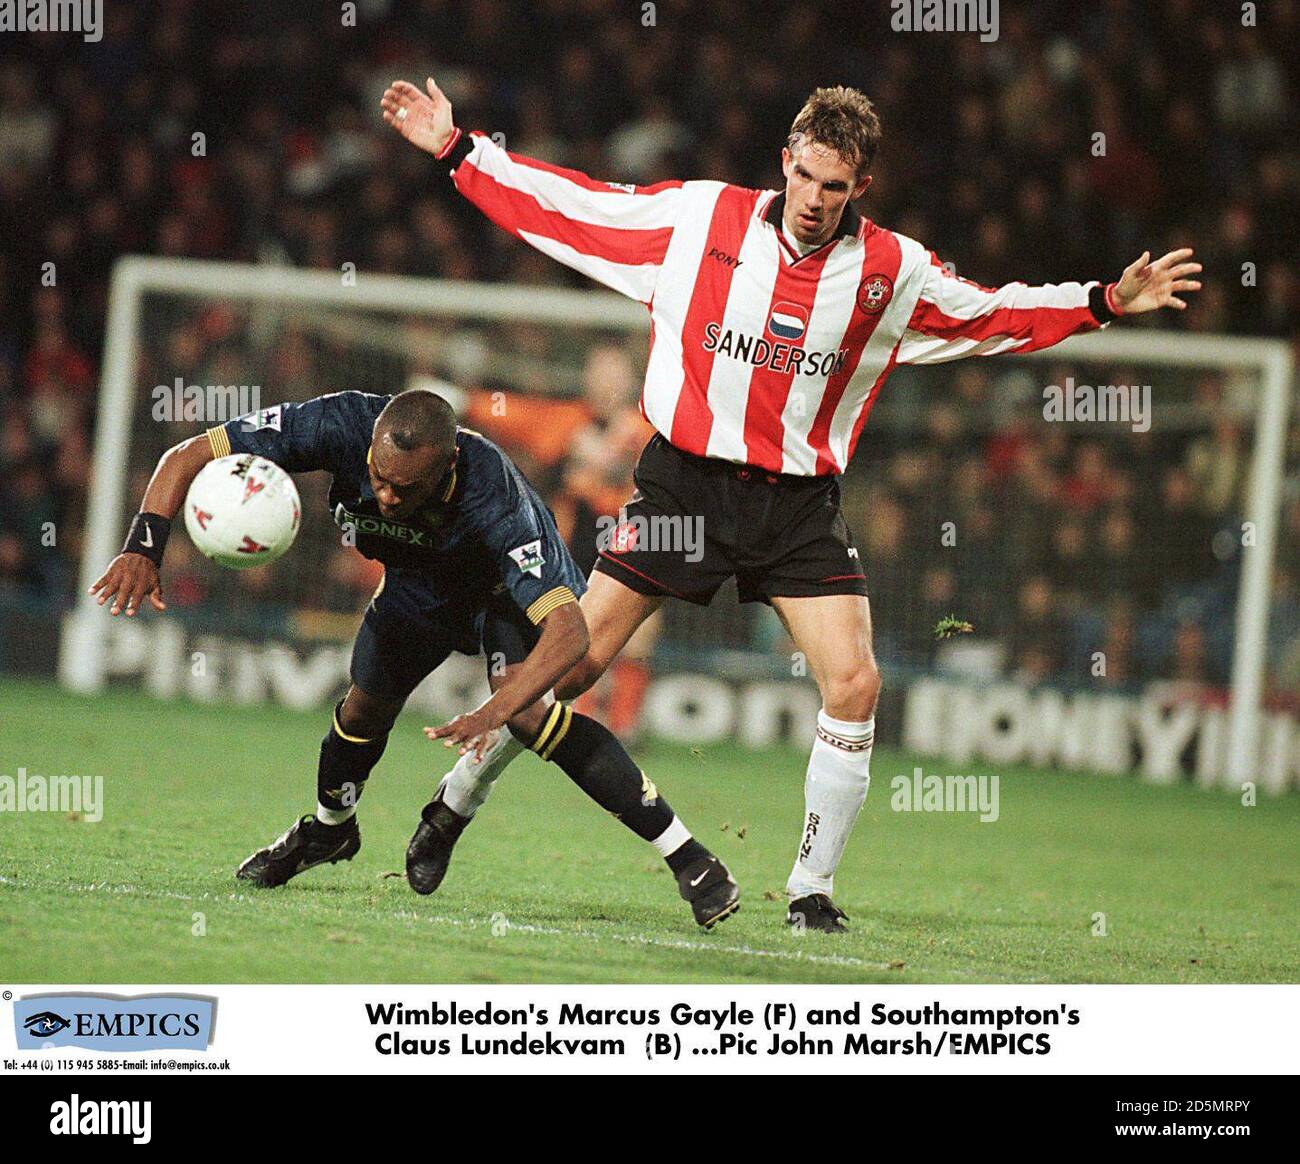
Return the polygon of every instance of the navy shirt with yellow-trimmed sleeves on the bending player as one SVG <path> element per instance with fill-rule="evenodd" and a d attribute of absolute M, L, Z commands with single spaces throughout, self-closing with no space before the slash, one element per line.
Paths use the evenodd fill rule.
<path fill-rule="evenodd" d="M 460 455 L 433 501 L 403 520 L 380 512 L 367 458 L 391 399 L 341 391 L 276 404 L 208 429 L 208 442 L 213 456 L 254 453 L 291 473 L 330 473 L 335 524 L 367 558 L 426 584 L 436 602 L 481 606 L 504 589 L 536 624 L 576 601 L 586 580 L 550 511 L 514 462 L 472 429 L 456 429 Z"/>

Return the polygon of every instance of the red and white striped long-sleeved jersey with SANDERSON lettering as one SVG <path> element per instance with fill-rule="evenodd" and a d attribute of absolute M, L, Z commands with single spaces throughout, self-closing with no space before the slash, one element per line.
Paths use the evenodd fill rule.
<path fill-rule="evenodd" d="M 701 456 L 842 473 L 896 364 L 1034 351 L 1112 317 L 1096 282 L 982 287 L 852 207 L 801 256 L 776 191 L 601 182 L 478 134 L 445 156 L 497 225 L 650 308 L 641 411 Z"/>

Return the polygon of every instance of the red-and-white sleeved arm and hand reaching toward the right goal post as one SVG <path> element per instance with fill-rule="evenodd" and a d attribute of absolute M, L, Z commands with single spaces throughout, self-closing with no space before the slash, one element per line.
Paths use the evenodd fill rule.
<path fill-rule="evenodd" d="M 1150 254 L 1113 284 L 1006 284 L 983 287 L 949 273 L 931 255 L 931 267 L 898 345 L 900 364 L 940 364 L 968 355 L 1037 351 L 1076 332 L 1091 332 L 1121 315 L 1161 307 L 1187 307 L 1179 298 L 1199 291 L 1200 263 L 1190 247 L 1154 263 Z"/>

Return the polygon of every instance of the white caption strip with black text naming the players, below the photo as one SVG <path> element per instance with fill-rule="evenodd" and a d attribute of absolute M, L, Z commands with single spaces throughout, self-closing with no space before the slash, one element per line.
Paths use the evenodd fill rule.
<path fill-rule="evenodd" d="M 46 996 L 94 1043 L 60 995 L 160 994 L 216 999 L 207 1051 L 18 1047 L 23 999 Z M 1297 986 L 16 985 L 4 999 L 5 1073 L 1274 1074 L 1294 1070 L 1300 1035 Z"/>

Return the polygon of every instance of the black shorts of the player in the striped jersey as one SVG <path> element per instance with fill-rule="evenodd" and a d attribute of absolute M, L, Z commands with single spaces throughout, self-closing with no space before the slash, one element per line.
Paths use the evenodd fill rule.
<path fill-rule="evenodd" d="M 838 477 L 696 456 L 656 433 L 634 480 L 595 568 L 637 593 L 705 606 L 732 576 L 741 602 L 867 593 Z"/>

